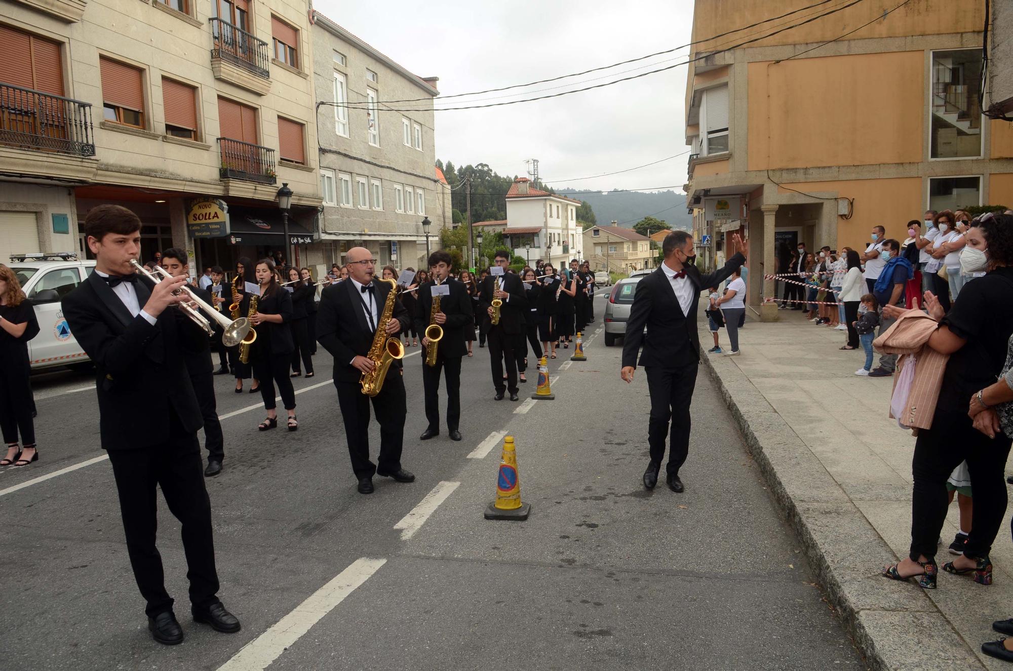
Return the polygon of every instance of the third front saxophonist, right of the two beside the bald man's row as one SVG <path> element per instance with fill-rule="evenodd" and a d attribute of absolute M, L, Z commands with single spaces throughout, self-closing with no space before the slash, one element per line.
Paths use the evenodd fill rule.
<path fill-rule="evenodd" d="M 503 391 L 510 390 L 510 399 L 518 400 L 517 386 L 517 353 L 521 349 L 521 339 L 525 334 L 525 313 L 528 311 L 528 299 L 525 296 L 524 283 L 521 278 L 508 273 L 510 268 L 510 251 L 499 249 L 495 253 L 494 264 L 503 271 L 502 275 L 489 275 L 482 280 L 482 290 L 479 293 L 479 311 L 483 314 L 485 332 L 489 339 L 489 363 L 492 368 L 492 385 L 496 388 L 496 400 L 502 400 Z M 495 289 L 496 278 L 499 289 Z M 502 301 L 499 308 L 499 323 L 492 325 L 492 301 L 498 298 Z M 503 362 L 506 363 L 506 385 L 503 385 Z"/>

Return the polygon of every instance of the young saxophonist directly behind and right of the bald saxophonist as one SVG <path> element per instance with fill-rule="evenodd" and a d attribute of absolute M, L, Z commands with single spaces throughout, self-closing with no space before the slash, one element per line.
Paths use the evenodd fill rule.
<path fill-rule="evenodd" d="M 461 358 L 468 353 L 465 345 L 465 328 L 474 324 L 474 312 L 471 309 L 471 297 L 461 282 L 448 279 L 450 267 L 453 264 L 451 255 L 442 249 L 430 254 L 431 282 L 419 285 L 418 298 L 415 301 L 415 330 L 422 337 L 422 386 L 425 390 L 425 419 L 430 426 L 418 437 L 428 440 L 440 435 L 440 401 L 437 392 L 440 390 L 440 370 L 443 369 L 447 380 L 447 430 L 451 440 L 461 440 Z M 449 294 L 440 297 L 440 311 L 433 316 L 433 321 L 443 328 L 443 338 L 433 344 L 437 348 L 437 363 L 435 366 L 425 364 L 430 341 L 425 338 L 425 328 L 430 325 L 430 313 L 433 310 L 433 290 L 438 286 L 446 286 Z M 438 290 L 439 291 L 439 290 Z"/>

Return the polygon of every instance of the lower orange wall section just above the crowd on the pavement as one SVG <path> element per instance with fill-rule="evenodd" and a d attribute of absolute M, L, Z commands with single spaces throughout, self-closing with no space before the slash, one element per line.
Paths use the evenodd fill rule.
<path fill-rule="evenodd" d="M 886 237 L 903 240 L 908 237 L 908 222 L 925 214 L 922 202 L 922 179 L 853 179 L 845 181 L 805 181 L 788 184 L 800 192 L 831 192 L 842 198 L 855 199 L 851 219 L 837 219 L 837 246 L 864 249 L 871 240 L 873 226 L 886 229 Z M 778 193 L 791 194 L 785 189 Z M 834 201 L 824 201 L 824 207 L 837 208 Z M 859 247 L 860 245 L 860 247 Z"/>

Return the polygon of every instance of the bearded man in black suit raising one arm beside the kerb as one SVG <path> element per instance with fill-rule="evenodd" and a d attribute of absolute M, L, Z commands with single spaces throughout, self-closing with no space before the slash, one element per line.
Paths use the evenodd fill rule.
<path fill-rule="evenodd" d="M 731 237 L 731 249 L 745 249 L 737 234 Z M 679 469 L 686 461 L 690 444 L 690 403 L 700 366 L 700 336 L 697 332 L 697 303 L 701 290 L 715 287 L 730 277 L 746 256 L 735 253 L 724 268 L 701 275 L 694 263 L 693 236 L 673 231 L 661 243 L 665 262 L 637 284 L 630 317 L 626 322 L 623 362 L 620 373 L 627 383 L 633 381 L 637 366 L 647 374 L 650 391 L 650 419 L 647 442 L 650 462 L 643 473 L 648 490 L 657 483 L 657 473 L 665 458 L 665 438 L 669 435 L 669 463 L 666 481 L 673 492 L 683 491 Z M 644 326 L 647 332 L 644 333 Z"/>

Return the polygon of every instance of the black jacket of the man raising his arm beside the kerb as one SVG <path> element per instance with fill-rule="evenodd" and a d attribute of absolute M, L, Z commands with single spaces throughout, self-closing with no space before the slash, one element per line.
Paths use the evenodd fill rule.
<path fill-rule="evenodd" d="M 636 366 L 636 355 L 643 344 L 640 365 L 644 368 L 680 368 L 700 361 L 700 334 L 697 332 L 697 299 L 703 289 L 716 287 L 746 263 L 735 254 L 719 271 L 700 275 L 696 266 L 686 267 L 686 277 L 693 283 L 694 297 L 689 314 L 684 314 L 663 268 L 640 280 L 626 322 L 623 338 L 623 366 Z M 643 327 L 647 326 L 644 334 Z"/>

